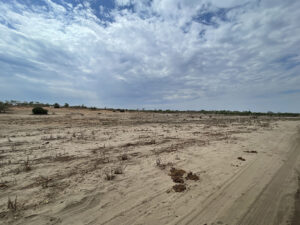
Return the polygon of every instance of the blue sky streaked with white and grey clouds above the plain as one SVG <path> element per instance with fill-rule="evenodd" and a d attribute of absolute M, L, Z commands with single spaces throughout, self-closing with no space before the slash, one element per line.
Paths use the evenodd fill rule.
<path fill-rule="evenodd" d="M 0 100 L 300 112 L 299 0 L 0 0 Z"/>

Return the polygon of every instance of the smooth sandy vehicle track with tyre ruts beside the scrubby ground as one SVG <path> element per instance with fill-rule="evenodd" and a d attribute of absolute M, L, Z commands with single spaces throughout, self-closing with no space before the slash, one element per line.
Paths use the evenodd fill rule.
<path fill-rule="evenodd" d="M 300 155 L 300 132 L 289 137 L 282 134 L 275 143 L 287 155 L 257 158 L 232 177 L 204 204 L 199 205 L 175 224 L 287 224 L 289 202 L 295 189 L 295 166 Z"/>

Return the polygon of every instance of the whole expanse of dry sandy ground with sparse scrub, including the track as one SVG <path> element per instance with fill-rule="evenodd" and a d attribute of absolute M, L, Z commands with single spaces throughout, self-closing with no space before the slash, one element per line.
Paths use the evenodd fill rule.
<path fill-rule="evenodd" d="M 0 114 L 0 224 L 299 224 L 300 120 L 49 111 Z"/>

